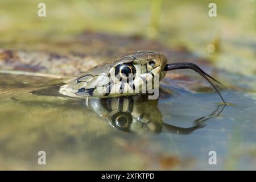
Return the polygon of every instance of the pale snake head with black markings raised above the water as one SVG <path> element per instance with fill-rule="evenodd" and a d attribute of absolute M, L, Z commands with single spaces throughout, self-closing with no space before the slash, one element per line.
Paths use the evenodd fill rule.
<path fill-rule="evenodd" d="M 147 93 L 155 80 L 165 75 L 163 53 L 135 51 L 89 69 L 61 86 L 60 93 L 71 97 L 121 97 Z M 158 86 L 158 85 L 157 85 Z"/>

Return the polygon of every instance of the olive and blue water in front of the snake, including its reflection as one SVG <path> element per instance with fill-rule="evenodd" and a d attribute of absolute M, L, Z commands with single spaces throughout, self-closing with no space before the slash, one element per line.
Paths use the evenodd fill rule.
<path fill-rule="evenodd" d="M 224 108 L 167 77 L 159 100 L 99 102 L 60 96 L 61 81 L 0 75 L 0 169 L 256 169 L 256 101 L 244 91 L 222 90 Z"/>

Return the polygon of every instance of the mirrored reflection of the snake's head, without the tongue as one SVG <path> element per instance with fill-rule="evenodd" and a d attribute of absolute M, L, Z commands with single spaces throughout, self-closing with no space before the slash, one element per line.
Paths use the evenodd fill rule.
<path fill-rule="evenodd" d="M 157 100 L 147 100 L 143 96 L 119 98 L 88 98 L 86 109 L 105 118 L 111 126 L 135 133 L 159 133 L 162 114 Z"/>

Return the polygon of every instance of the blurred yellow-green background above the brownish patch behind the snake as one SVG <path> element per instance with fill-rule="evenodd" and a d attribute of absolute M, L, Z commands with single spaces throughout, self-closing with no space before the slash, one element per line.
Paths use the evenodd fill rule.
<path fill-rule="evenodd" d="M 38 16 L 40 2 L 46 3 L 46 17 Z M 40 43 L 84 31 L 143 36 L 218 60 L 218 67 L 231 66 L 231 72 L 255 75 L 255 1 L 214 1 L 217 17 L 208 15 L 210 2 L 1 1 L 0 47 L 42 49 Z M 214 53 L 207 51 L 209 44 Z"/>

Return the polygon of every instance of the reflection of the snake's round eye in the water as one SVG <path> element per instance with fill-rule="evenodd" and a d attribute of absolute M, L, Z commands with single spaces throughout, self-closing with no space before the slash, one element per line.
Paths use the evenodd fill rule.
<path fill-rule="evenodd" d="M 129 130 L 133 117 L 130 113 L 118 112 L 112 115 L 111 123 L 114 127 L 119 130 Z"/>

